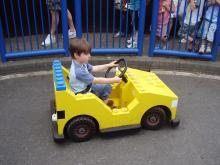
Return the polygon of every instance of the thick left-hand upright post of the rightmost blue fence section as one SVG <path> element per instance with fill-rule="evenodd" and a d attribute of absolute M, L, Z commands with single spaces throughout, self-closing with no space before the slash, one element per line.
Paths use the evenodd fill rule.
<path fill-rule="evenodd" d="M 153 1 L 152 21 L 151 21 L 151 34 L 150 34 L 150 47 L 149 56 L 152 57 L 155 49 L 156 32 L 157 32 L 157 16 L 159 9 L 159 0 Z"/>

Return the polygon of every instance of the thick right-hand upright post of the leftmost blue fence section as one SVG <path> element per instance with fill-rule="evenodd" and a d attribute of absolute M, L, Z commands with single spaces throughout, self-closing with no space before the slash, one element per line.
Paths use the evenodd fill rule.
<path fill-rule="evenodd" d="M 63 30 L 63 47 L 65 49 L 65 56 L 69 55 L 69 36 L 68 36 L 68 19 L 67 19 L 67 4 L 66 0 L 61 1 L 61 17 Z"/>

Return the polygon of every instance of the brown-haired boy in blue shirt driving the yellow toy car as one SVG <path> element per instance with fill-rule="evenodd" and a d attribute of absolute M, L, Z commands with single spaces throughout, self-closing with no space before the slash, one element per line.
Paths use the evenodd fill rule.
<path fill-rule="evenodd" d="M 107 70 L 110 67 L 118 66 L 115 61 L 92 66 L 88 63 L 91 55 L 91 47 L 85 39 L 74 38 L 70 41 L 69 51 L 72 57 L 70 68 L 70 87 L 75 94 L 92 92 L 102 99 L 108 106 L 113 106 L 113 101 L 108 100 L 111 93 L 112 83 L 121 81 L 119 77 L 104 78 L 94 77 L 91 72 Z"/>

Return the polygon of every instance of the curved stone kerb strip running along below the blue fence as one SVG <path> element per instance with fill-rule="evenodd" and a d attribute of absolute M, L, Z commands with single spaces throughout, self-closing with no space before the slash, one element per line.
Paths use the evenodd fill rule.
<path fill-rule="evenodd" d="M 211 75 L 220 75 L 220 59 L 217 61 L 207 61 L 191 58 L 178 57 L 148 57 L 148 56 L 108 56 L 96 55 L 92 56 L 91 64 L 104 64 L 119 58 L 125 58 L 128 66 L 142 70 L 161 69 L 161 70 L 175 70 L 186 71 L 193 73 L 205 73 Z M 220 52 L 218 57 L 220 57 Z M 23 73 L 32 71 L 51 70 L 51 64 L 54 59 L 60 59 L 67 68 L 70 67 L 71 58 L 64 56 L 50 56 L 38 58 L 15 59 L 6 63 L 0 62 L 0 75 L 7 75 L 12 73 Z"/>

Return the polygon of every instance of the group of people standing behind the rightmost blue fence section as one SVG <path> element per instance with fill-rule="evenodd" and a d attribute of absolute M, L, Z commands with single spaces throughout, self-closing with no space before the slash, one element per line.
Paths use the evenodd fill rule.
<path fill-rule="evenodd" d="M 162 48 L 170 36 L 167 30 L 173 18 L 179 22 L 178 37 L 180 43 L 187 43 L 192 51 L 195 40 L 200 40 L 199 53 L 211 53 L 214 34 L 217 28 L 220 0 L 160 0 L 157 24 L 157 39 L 162 40 Z M 195 45 L 194 45 L 195 47 Z"/>

